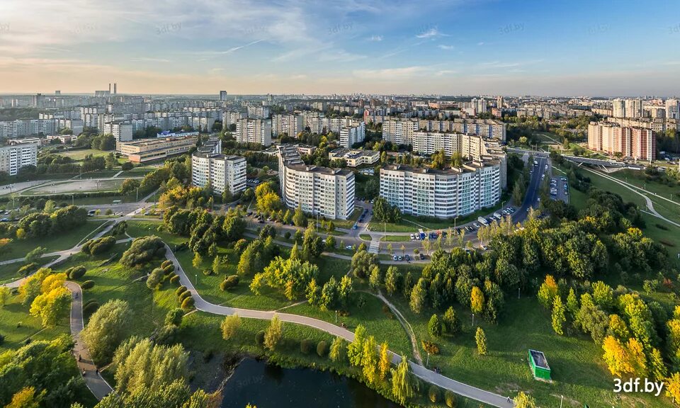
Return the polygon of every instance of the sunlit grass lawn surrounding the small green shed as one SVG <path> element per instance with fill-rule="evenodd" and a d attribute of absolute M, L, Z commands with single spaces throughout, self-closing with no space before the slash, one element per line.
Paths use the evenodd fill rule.
<path fill-rule="evenodd" d="M 583 407 L 670 407 L 667 400 L 651 395 L 616 395 L 613 378 L 601 358 L 601 348 L 585 336 L 558 336 L 550 324 L 550 313 L 538 305 L 535 296 L 507 298 L 498 324 L 475 319 L 467 308 L 457 307 L 463 331 L 455 337 L 432 339 L 427 322 L 433 313 L 413 314 L 400 295 L 395 305 L 412 324 L 416 337 L 434 341 L 441 353 L 429 357 L 431 366 L 441 368 L 443 375 L 467 384 L 492 390 L 500 395 L 516 395 L 518 390 L 536 397 L 540 407 L 557 407 L 560 395 L 565 406 Z M 487 336 L 487 356 L 477 354 L 475 330 L 480 326 Z M 553 382 L 534 380 L 528 367 L 528 348 L 540 350 L 548 358 Z M 425 358 L 425 351 L 421 350 Z"/>

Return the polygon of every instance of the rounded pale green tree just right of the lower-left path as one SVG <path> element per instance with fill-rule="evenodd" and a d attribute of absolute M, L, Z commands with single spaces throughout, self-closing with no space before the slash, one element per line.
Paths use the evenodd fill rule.
<path fill-rule="evenodd" d="M 130 317 L 130 307 L 124 300 L 109 300 L 92 314 L 80 336 L 95 361 L 111 358 L 125 337 Z"/>

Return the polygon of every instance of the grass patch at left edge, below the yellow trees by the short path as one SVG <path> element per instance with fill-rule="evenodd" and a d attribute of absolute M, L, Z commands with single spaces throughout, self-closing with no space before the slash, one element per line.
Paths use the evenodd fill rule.
<path fill-rule="evenodd" d="M 0 352 L 19 348 L 30 337 L 32 340 L 54 339 L 57 335 L 69 332 L 69 319 L 62 319 L 57 327 L 42 329 L 40 317 L 28 313 L 30 305 L 23 306 L 18 295 L 11 295 L 4 307 L 0 307 L 0 334 L 5 341 L 0 344 Z"/>

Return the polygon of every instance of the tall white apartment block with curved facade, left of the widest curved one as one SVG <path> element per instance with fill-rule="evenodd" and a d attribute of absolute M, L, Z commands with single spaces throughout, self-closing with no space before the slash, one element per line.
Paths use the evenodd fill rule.
<path fill-rule="evenodd" d="M 278 146 L 283 203 L 311 215 L 346 220 L 354 211 L 354 173 L 307 166 L 293 145 Z"/>

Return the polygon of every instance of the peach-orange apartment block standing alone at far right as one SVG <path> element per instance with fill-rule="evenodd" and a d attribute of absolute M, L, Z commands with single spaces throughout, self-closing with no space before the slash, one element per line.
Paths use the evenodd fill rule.
<path fill-rule="evenodd" d="M 657 141 L 654 131 L 621 126 L 617 123 L 588 125 L 588 148 L 608 154 L 622 154 L 635 160 L 655 160 Z"/>

